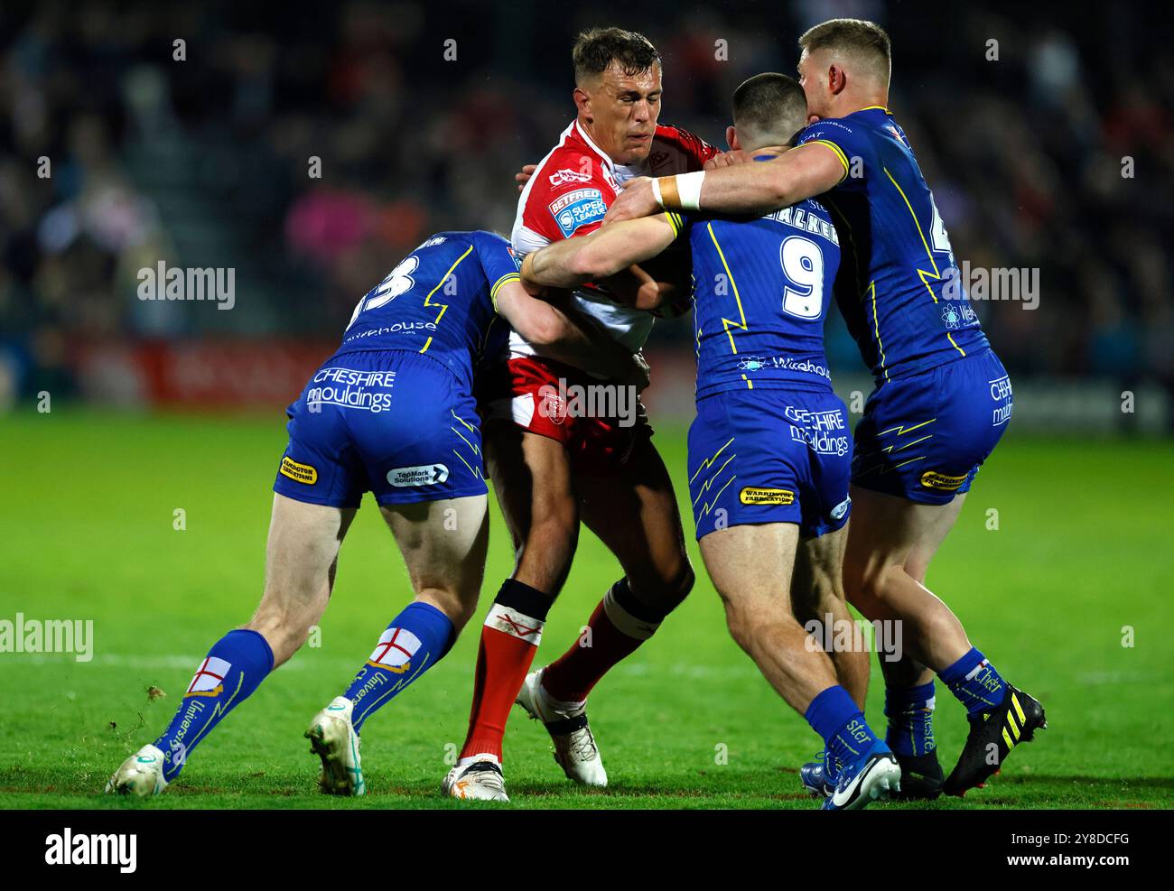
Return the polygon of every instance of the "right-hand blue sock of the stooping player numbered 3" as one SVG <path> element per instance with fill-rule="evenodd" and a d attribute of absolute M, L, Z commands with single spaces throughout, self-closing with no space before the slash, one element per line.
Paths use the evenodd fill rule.
<path fill-rule="evenodd" d="M 355 731 L 376 709 L 439 662 L 456 640 L 448 616 L 429 603 L 409 603 L 391 620 L 371 659 L 343 694 L 355 703 Z"/>

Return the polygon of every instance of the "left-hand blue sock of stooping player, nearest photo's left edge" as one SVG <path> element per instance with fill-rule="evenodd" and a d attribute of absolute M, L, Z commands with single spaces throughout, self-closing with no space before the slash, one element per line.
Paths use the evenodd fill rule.
<path fill-rule="evenodd" d="M 188 684 L 183 704 L 155 741 L 163 750 L 167 782 L 180 775 L 196 743 L 244 702 L 272 670 L 274 652 L 257 632 L 229 632 L 212 644 Z"/>

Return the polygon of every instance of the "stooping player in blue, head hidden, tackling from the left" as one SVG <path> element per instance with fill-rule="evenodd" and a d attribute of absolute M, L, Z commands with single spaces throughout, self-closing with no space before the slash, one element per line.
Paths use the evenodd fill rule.
<path fill-rule="evenodd" d="M 643 360 L 569 299 L 526 291 L 500 236 L 425 241 L 359 301 L 342 346 L 289 407 L 261 606 L 212 646 L 170 725 L 127 758 L 108 792 L 162 792 L 196 744 L 305 642 L 330 599 L 343 538 L 372 492 L 414 600 L 305 734 L 322 758 L 322 790 L 364 794 L 363 722 L 448 652 L 477 607 L 488 526 L 473 377 L 511 326 L 564 362 L 647 384 Z"/>

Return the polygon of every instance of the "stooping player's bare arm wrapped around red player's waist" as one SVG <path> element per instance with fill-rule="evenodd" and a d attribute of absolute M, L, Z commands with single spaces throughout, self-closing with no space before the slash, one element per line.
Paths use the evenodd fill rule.
<path fill-rule="evenodd" d="M 508 282 L 498 291 L 498 312 L 542 356 L 583 371 L 594 371 L 640 390 L 648 386 L 648 365 L 616 343 L 588 316 L 569 293 L 546 291 L 532 296 L 521 283 Z"/>

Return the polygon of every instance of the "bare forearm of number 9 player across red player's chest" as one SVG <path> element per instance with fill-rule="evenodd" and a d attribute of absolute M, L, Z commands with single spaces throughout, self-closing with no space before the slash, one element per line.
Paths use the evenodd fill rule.
<path fill-rule="evenodd" d="M 676 238 L 667 214 L 599 229 L 527 254 L 524 281 L 539 288 L 578 288 L 655 257 Z"/>

